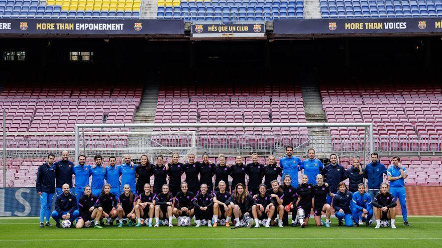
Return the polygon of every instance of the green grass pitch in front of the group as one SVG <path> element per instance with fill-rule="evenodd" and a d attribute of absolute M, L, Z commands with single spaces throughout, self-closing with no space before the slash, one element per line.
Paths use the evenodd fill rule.
<path fill-rule="evenodd" d="M 98 228 L 39 227 L 39 218 L 0 218 L 0 247 L 440 247 L 442 217 L 409 217 L 410 226 L 396 219 L 397 229 L 374 226 L 314 226 L 305 229 L 160 226 Z M 176 220 L 174 219 L 174 224 Z"/>

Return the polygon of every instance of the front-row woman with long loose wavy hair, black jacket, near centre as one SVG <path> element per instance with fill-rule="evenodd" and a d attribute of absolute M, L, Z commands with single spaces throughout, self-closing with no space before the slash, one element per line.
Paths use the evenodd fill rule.
<path fill-rule="evenodd" d="M 246 191 L 246 187 L 242 183 L 238 183 L 235 186 L 235 190 L 232 196 L 229 198 L 230 206 L 235 214 L 235 221 L 237 222 L 235 227 L 241 226 L 241 217 L 248 219 L 247 228 L 252 227 L 253 218 L 250 217 L 252 212 L 252 206 L 255 205 L 252 195 Z M 246 218 L 246 216 L 248 216 Z"/>

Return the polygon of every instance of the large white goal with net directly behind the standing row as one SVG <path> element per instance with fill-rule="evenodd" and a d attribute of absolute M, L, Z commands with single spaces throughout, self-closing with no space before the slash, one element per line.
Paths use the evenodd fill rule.
<path fill-rule="evenodd" d="M 353 130 L 355 135 L 339 135 L 343 129 Z M 76 124 L 74 135 L 76 163 L 82 153 L 135 157 L 148 153 L 153 158 L 178 152 L 181 162 L 186 162 L 189 153 L 203 152 L 209 157 L 252 152 L 282 156 L 286 145 L 293 146 L 296 156 L 305 157 L 307 148 L 314 148 L 320 159 L 336 153 L 340 158 L 359 157 L 368 162 L 374 151 L 373 123 Z"/>

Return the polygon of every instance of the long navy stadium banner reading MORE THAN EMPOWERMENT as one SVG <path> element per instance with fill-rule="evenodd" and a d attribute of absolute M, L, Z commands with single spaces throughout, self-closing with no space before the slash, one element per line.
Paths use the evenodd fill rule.
<path fill-rule="evenodd" d="M 184 35 L 184 20 L 0 19 L 0 34 Z"/>

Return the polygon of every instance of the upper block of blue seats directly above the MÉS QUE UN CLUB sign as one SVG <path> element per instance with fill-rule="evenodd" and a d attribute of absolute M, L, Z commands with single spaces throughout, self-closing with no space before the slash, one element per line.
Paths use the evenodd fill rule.
<path fill-rule="evenodd" d="M 303 0 L 158 0 L 158 19 L 272 21 L 303 19 Z"/>

